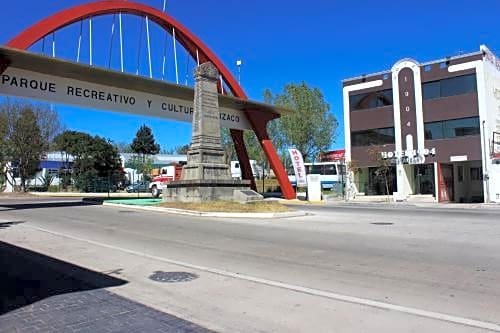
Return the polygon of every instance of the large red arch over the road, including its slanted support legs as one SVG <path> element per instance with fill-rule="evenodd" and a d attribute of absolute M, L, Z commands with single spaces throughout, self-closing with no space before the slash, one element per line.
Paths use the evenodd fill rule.
<path fill-rule="evenodd" d="M 193 33 L 186 27 L 176 21 L 170 15 L 167 15 L 153 7 L 145 6 L 143 4 L 128 2 L 126 0 L 109 0 L 97 1 L 88 4 L 75 6 L 61 12 L 58 12 L 21 32 L 18 36 L 14 37 L 7 43 L 7 46 L 17 49 L 28 49 L 31 45 L 49 35 L 53 31 L 61 29 L 67 25 L 78 22 L 82 19 L 95 17 L 106 14 L 133 14 L 138 16 L 148 16 L 148 18 L 158 25 L 163 27 L 166 31 L 172 31 L 175 28 L 176 39 L 182 46 L 189 52 L 191 57 L 198 57 L 200 63 L 210 61 L 219 70 L 228 85 L 229 89 L 234 96 L 247 99 L 247 96 L 241 86 L 238 84 L 231 72 L 224 66 L 222 61 Z M 246 111 L 247 118 L 252 125 L 252 128 L 259 139 L 264 152 L 266 153 L 271 167 L 273 168 L 278 181 L 281 185 L 283 194 L 286 199 L 295 197 L 295 192 L 288 180 L 288 176 L 283 168 L 283 165 L 274 149 L 274 146 L 269 139 L 266 125 L 269 120 L 273 119 L 273 115 L 263 118 L 262 114 L 252 113 L 251 110 Z M 243 144 L 243 132 L 239 130 L 231 130 L 231 136 L 235 143 L 235 148 L 238 154 L 238 159 L 242 165 L 245 179 L 251 179 L 255 189 L 255 182 L 248 160 L 248 153 Z"/>

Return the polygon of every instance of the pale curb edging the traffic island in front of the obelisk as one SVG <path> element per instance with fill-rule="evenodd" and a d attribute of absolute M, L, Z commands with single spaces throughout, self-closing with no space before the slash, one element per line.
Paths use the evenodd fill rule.
<path fill-rule="evenodd" d="M 164 208 L 164 207 L 151 207 L 151 206 L 132 206 L 125 204 L 116 204 L 103 202 L 103 206 L 109 207 L 119 207 L 119 208 L 128 208 L 128 209 L 138 209 L 138 210 L 146 210 L 151 212 L 158 213 L 171 213 L 178 215 L 188 215 L 188 216 L 201 216 L 201 217 L 234 217 L 234 218 L 244 218 L 244 217 L 260 217 L 260 218 L 287 218 L 287 217 L 299 217 L 310 215 L 303 211 L 294 211 L 294 212 L 283 212 L 283 213 L 225 213 L 225 212 L 197 212 L 194 210 L 184 210 L 177 208 Z"/>

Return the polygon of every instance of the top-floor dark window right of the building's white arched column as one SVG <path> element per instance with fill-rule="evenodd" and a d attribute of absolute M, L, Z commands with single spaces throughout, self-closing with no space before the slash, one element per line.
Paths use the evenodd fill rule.
<path fill-rule="evenodd" d="M 477 92 L 476 74 L 468 74 L 422 84 L 423 99 L 433 99 Z"/>

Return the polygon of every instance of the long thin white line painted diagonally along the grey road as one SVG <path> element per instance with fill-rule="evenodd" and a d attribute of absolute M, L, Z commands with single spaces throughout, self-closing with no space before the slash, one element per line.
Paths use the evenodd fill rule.
<path fill-rule="evenodd" d="M 222 276 L 226 276 L 226 277 L 255 282 L 255 283 L 259 283 L 259 284 L 263 284 L 263 285 L 267 285 L 267 286 L 291 290 L 291 291 L 304 293 L 304 294 L 308 294 L 308 295 L 329 298 L 332 300 L 343 301 L 343 302 L 359 304 L 359 305 L 364 305 L 364 306 L 370 306 L 370 307 L 374 307 L 374 308 L 378 308 L 378 309 L 397 311 L 397 312 L 415 315 L 415 316 L 419 316 L 419 317 L 436 319 L 436 320 L 446 321 L 446 322 L 450 322 L 450 323 L 455 323 L 455 324 L 466 325 L 466 326 L 471 326 L 471 327 L 476 327 L 476 328 L 487 329 L 487 330 L 491 330 L 491 331 L 495 331 L 495 332 L 500 332 L 500 325 L 496 324 L 496 323 L 480 321 L 480 320 L 464 318 L 464 317 L 458 317 L 458 316 L 448 315 L 445 313 L 427 311 L 427 310 L 406 307 L 406 306 L 391 304 L 391 303 L 386 303 L 386 302 L 379 302 L 379 301 L 374 301 L 374 300 L 366 299 L 366 298 L 342 295 L 342 294 L 333 293 L 333 292 L 329 292 L 329 291 L 313 289 L 313 288 L 308 288 L 308 287 L 303 287 L 303 286 L 297 286 L 297 285 L 283 283 L 283 282 L 274 281 L 274 280 L 263 279 L 263 278 L 259 278 L 259 277 L 255 277 L 255 276 L 251 276 L 251 275 L 220 270 L 217 268 L 210 268 L 210 267 L 190 264 L 190 263 L 186 263 L 186 262 L 182 262 L 182 261 L 178 261 L 178 260 L 167 259 L 167 258 L 155 256 L 155 255 L 150 255 L 147 253 L 129 250 L 129 249 L 121 248 L 121 247 L 114 246 L 114 245 L 95 242 L 95 241 L 88 240 L 85 238 L 75 237 L 75 236 L 63 234 L 63 233 L 60 233 L 57 231 L 52 231 L 52 230 L 48 230 L 48 229 L 44 229 L 44 228 L 31 227 L 31 226 L 26 226 L 26 225 L 20 225 L 20 227 L 31 228 L 31 229 L 46 232 L 46 233 L 49 233 L 52 235 L 65 237 L 65 238 L 69 238 L 69 239 L 73 239 L 73 240 L 77 240 L 77 241 L 81 241 L 81 242 L 86 242 L 86 243 L 97 245 L 100 247 L 105 247 L 105 248 L 112 249 L 112 250 L 122 251 L 122 252 L 129 253 L 132 255 L 141 256 L 141 257 L 148 258 L 148 259 L 154 259 L 154 260 L 162 261 L 162 262 L 165 262 L 168 264 L 190 268 L 193 270 L 204 271 L 204 272 L 208 272 L 208 273 L 212 273 L 212 274 L 218 274 L 218 275 L 222 275 Z"/>

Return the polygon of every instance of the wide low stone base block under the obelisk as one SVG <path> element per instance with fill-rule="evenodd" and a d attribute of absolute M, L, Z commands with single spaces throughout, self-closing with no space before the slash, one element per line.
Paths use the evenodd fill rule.
<path fill-rule="evenodd" d="M 249 180 L 195 179 L 170 182 L 162 192 L 165 202 L 232 201 L 234 190 L 249 188 Z"/>

